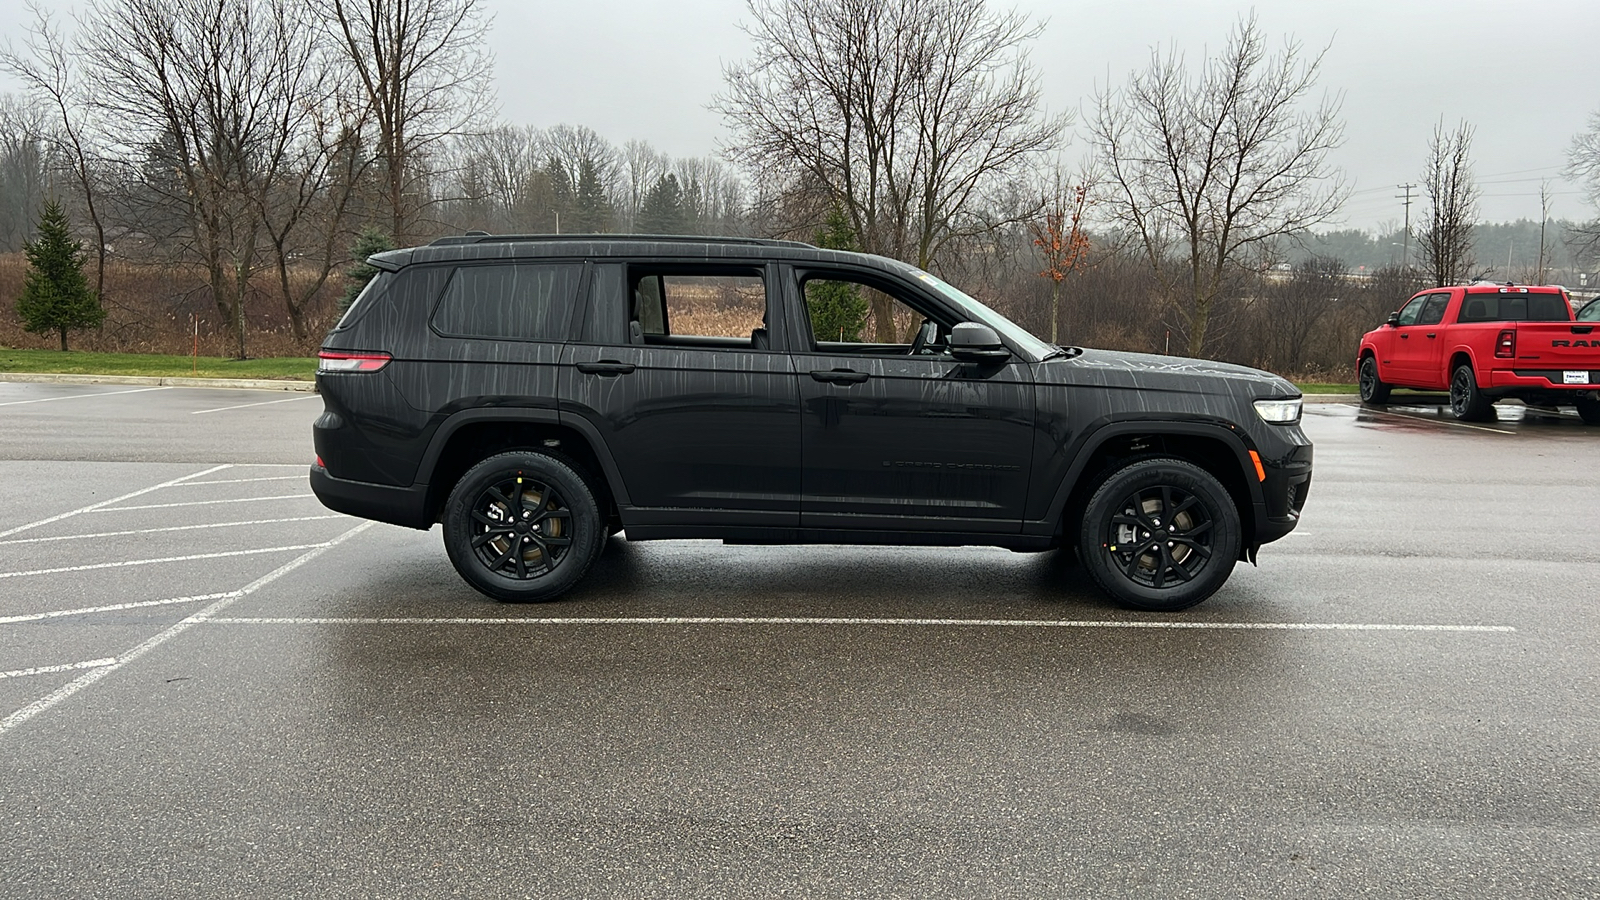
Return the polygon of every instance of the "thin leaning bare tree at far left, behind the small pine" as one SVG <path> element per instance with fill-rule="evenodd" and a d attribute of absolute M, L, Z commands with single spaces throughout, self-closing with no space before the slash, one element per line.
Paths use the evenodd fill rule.
<path fill-rule="evenodd" d="M 67 46 L 61 30 L 42 6 L 32 6 L 34 26 L 27 32 L 22 50 L 6 42 L 0 51 L 0 69 L 16 75 L 29 93 L 50 106 L 56 119 L 51 130 L 58 155 L 67 160 L 72 178 L 83 194 L 83 207 L 94 227 L 94 296 L 106 301 L 106 218 L 99 200 L 99 184 L 94 179 L 96 152 L 91 144 L 94 123 L 90 122 L 91 104 L 83 96 L 85 74 L 77 67 L 77 58 Z"/>

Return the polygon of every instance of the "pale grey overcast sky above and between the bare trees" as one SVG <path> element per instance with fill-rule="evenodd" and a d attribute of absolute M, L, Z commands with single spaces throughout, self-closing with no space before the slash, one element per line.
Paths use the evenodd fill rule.
<path fill-rule="evenodd" d="M 613 143 L 640 138 L 672 155 L 717 152 L 722 122 L 706 106 L 722 90 L 723 64 L 749 54 L 738 27 L 744 0 L 483 2 L 494 14 L 490 43 L 506 120 L 587 125 Z M 1344 213 L 1352 227 L 1400 223 L 1395 186 L 1419 179 L 1440 117 L 1477 128 L 1482 218 L 1538 219 L 1542 179 L 1552 181 L 1554 216 L 1595 215 L 1560 170 L 1573 135 L 1600 112 L 1600 0 L 1032 0 L 1018 8 L 1048 22 L 1032 59 L 1051 112 L 1078 110 L 1107 77 L 1125 82 L 1152 46 L 1176 42 L 1198 61 L 1251 8 L 1274 40 L 1328 46 L 1320 85 L 1344 94 L 1346 143 L 1331 159 L 1354 186 Z M 29 19 L 21 0 L 0 0 L 3 34 Z M 0 75 L 0 90 L 16 83 Z M 1083 144 L 1074 135 L 1066 152 Z"/>

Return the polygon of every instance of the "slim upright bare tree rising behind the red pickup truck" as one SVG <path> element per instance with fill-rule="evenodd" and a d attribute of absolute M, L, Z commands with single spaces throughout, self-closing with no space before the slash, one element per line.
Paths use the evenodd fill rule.
<path fill-rule="evenodd" d="M 1461 283 L 1474 275 L 1472 224 L 1478 218 L 1478 187 L 1472 179 L 1472 127 L 1462 122 L 1445 131 L 1440 120 L 1427 144 L 1422 170 L 1427 219 L 1416 242 L 1422 269 L 1435 287 Z"/>

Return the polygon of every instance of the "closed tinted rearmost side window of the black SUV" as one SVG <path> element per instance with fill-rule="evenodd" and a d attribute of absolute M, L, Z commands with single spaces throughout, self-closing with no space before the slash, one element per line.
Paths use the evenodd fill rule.
<path fill-rule="evenodd" d="M 434 328 L 461 338 L 565 341 L 582 266 L 461 266 L 434 311 Z"/>

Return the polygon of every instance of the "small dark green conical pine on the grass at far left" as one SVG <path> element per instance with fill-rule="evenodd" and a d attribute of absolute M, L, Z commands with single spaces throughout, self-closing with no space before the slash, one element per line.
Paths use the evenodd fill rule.
<path fill-rule="evenodd" d="M 16 314 L 35 335 L 56 331 L 67 349 L 67 331 L 94 328 L 106 320 L 99 298 L 83 277 L 83 245 L 72 240 L 67 215 L 54 200 L 38 216 L 38 237 L 24 245 L 27 275 Z"/>

